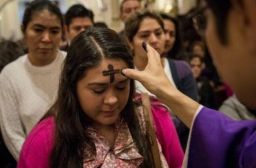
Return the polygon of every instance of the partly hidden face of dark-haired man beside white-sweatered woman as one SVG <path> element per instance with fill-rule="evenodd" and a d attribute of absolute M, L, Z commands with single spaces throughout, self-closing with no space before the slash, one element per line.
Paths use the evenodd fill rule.
<path fill-rule="evenodd" d="M 65 26 L 65 33 L 69 41 L 72 41 L 81 31 L 93 27 L 93 21 L 89 17 L 75 17 L 69 26 Z"/>

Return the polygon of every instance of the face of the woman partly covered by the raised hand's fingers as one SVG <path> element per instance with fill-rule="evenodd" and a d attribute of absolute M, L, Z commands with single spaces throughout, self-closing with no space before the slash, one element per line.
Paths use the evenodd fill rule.
<path fill-rule="evenodd" d="M 149 17 L 145 18 L 141 22 L 135 37 L 133 37 L 133 42 L 131 42 L 131 47 L 135 52 L 135 56 L 143 56 L 144 58 L 147 58 L 146 52 L 141 46 L 143 41 L 155 48 L 159 54 L 163 54 L 165 48 L 165 35 L 161 25 L 159 25 L 155 19 Z"/>

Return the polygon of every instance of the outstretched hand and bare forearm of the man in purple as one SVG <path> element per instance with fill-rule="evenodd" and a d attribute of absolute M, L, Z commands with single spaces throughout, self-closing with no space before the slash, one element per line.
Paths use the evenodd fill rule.
<path fill-rule="evenodd" d="M 145 47 L 143 47 L 145 48 Z M 147 45 L 148 62 L 145 70 L 123 69 L 128 78 L 138 80 L 157 96 L 158 100 L 168 106 L 187 127 L 191 127 L 199 104 L 177 90 L 165 74 L 158 52 Z"/>

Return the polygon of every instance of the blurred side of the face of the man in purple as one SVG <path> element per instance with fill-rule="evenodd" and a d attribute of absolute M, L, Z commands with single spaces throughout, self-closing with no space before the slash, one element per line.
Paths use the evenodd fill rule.
<path fill-rule="evenodd" d="M 247 8 L 239 3 L 233 3 L 227 16 L 225 28 L 227 42 L 223 44 L 217 33 L 217 21 L 211 11 L 207 13 L 208 25 L 206 29 L 206 41 L 213 61 L 217 66 L 223 80 L 231 86 L 239 101 L 249 108 L 255 106 L 256 80 L 256 25 L 255 15 L 251 15 L 255 8 L 251 7 L 255 2 L 243 1 Z M 252 101 L 254 100 L 254 101 Z"/>

